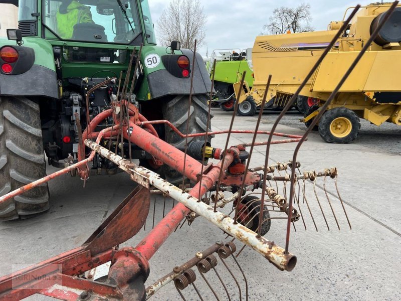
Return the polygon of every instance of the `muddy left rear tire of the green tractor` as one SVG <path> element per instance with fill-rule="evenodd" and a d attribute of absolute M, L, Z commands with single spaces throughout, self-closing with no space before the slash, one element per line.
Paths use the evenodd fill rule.
<path fill-rule="evenodd" d="M 46 176 L 39 105 L 26 97 L 0 97 L 0 196 Z M 49 210 L 47 183 L 0 204 L 0 220 Z"/>

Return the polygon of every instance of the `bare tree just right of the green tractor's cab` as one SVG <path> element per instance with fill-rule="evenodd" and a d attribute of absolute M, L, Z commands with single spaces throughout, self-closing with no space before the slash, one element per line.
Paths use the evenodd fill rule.
<path fill-rule="evenodd" d="M 199 0 L 171 0 L 157 21 L 159 42 L 169 46 L 171 41 L 180 41 L 182 48 L 193 49 L 205 40 L 207 17 Z"/>

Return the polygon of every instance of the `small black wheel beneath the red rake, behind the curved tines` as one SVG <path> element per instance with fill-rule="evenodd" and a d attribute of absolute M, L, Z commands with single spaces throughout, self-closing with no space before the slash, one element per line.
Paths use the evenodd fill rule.
<path fill-rule="evenodd" d="M 241 225 L 257 232 L 259 227 L 259 216 L 262 202 L 256 196 L 246 196 L 241 200 L 238 222 Z M 263 236 L 270 230 L 270 214 L 268 207 L 265 205 L 263 210 L 262 230 L 260 235 Z"/>

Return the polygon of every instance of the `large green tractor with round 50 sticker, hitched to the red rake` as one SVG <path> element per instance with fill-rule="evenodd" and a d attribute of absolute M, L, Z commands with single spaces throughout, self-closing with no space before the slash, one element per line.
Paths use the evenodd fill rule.
<path fill-rule="evenodd" d="M 132 64 L 139 60 L 139 68 L 129 99 L 140 113 L 148 120 L 169 120 L 184 132 L 194 72 L 189 128 L 192 133 L 207 130 L 211 80 L 203 59 L 196 54 L 191 66 L 193 51 L 180 49 L 179 42 L 167 49 L 156 46 L 147 0 L 20 0 L 18 27 L 0 40 L 0 196 L 46 176 L 46 157 L 57 168 L 64 168 L 67 158 L 77 162 L 75 113 L 85 129 L 87 113 L 93 119 L 108 108 L 133 52 Z M 86 92 L 111 77 L 119 80 L 93 91 L 86 103 Z M 96 130 L 113 120 L 106 123 Z M 185 143 L 169 127 L 160 125 L 156 131 L 178 148 Z M 131 148 L 141 165 L 150 165 L 171 183 L 182 179 L 144 150 Z M 91 174 L 116 172 L 108 160 L 95 157 L 92 162 Z M 48 209 L 44 185 L 1 204 L 0 220 Z"/>

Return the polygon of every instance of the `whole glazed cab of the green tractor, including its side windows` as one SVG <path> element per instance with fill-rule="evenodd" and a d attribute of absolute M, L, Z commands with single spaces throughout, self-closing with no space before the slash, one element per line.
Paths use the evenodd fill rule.
<path fill-rule="evenodd" d="M 22 0 L 19 28 L 48 40 L 156 44 L 147 0 Z"/>

